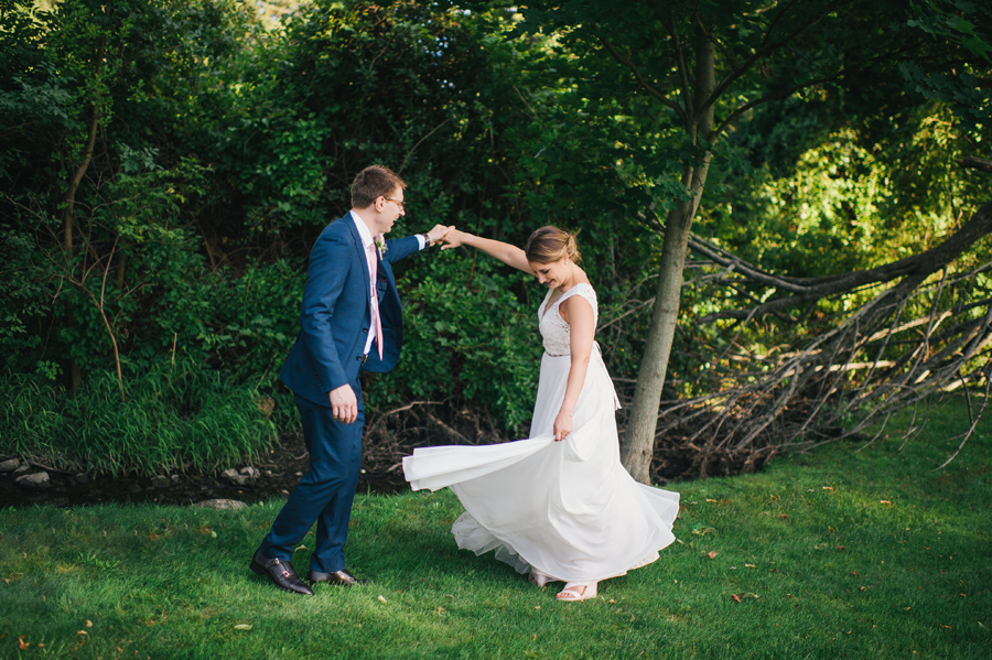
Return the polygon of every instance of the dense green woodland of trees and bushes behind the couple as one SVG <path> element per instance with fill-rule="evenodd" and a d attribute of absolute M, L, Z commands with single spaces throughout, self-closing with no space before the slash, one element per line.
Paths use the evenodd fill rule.
<path fill-rule="evenodd" d="M 679 411 L 790 387 L 758 356 L 841 336 L 881 295 L 877 281 L 829 294 L 810 282 L 913 259 L 988 202 L 986 175 L 958 165 L 988 158 L 992 127 L 980 3 L 259 7 L 0 0 L 10 379 L 79 397 L 109 372 L 142 405 L 130 383 L 180 360 L 218 378 L 196 382 L 274 397 L 292 425 L 277 372 L 309 248 L 379 162 L 410 186 L 398 234 L 442 223 L 521 244 L 543 224 L 580 230 L 632 411 L 628 467 L 647 479 L 659 450 L 688 446 L 707 473 L 715 454 L 697 439 L 729 446 L 713 420 L 743 409 L 686 428 Z M 925 278 L 905 313 L 980 318 L 986 250 L 978 240 Z M 397 440 L 526 432 L 536 290 L 468 252 L 411 257 L 398 274 L 408 344 L 366 383 L 373 444 L 395 459 Z M 853 419 L 831 407 L 789 426 L 773 405 L 767 433 L 727 461 Z"/>

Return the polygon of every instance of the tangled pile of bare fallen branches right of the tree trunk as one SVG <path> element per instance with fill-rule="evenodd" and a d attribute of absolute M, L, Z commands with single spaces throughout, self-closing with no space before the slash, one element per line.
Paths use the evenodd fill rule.
<path fill-rule="evenodd" d="M 662 403 L 654 476 L 748 472 L 787 448 L 870 443 L 894 412 L 920 413 L 936 394 L 960 390 L 970 425 L 950 463 L 992 382 L 992 290 L 978 283 L 992 262 L 955 262 L 990 232 L 992 202 L 930 250 L 816 279 L 775 275 L 693 237 L 698 277 L 684 285 L 736 304 L 693 321 L 692 353 L 709 367 L 692 380 L 708 393 Z M 824 317 L 821 303 L 841 297 L 862 302 Z M 777 328 L 777 347 L 758 353 L 741 342 L 757 323 Z M 919 428 L 914 418 L 910 432 Z"/>

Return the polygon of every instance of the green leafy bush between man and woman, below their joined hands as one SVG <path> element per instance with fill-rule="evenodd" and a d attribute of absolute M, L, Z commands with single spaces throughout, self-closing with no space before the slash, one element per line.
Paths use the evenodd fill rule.
<path fill-rule="evenodd" d="M 386 410 L 409 401 L 485 405 L 509 433 L 526 431 L 533 409 L 541 343 L 535 313 L 514 294 L 520 277 L 442 255 L 403 286 L 405 348 L 396 369 L 366 391 Z"/>

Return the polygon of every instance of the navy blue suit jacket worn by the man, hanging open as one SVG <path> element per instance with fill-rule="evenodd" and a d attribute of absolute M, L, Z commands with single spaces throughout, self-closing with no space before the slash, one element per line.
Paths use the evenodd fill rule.
<path fill-rule="evenodd" d="M 354 383 L 360 369 L 389 371 L 396 366 L 403 345 L 403 318 L 391 264 L 419 249 L 416 236 L 386 241 L 376 277 L 382 359 L 373 343 L 363 364 L 371 320 L 365 248 L 351 214 L 324 228 L 310 251 L 300 334 L 279 375 L 295 394 L 330 408 L 328 392 Z"/>

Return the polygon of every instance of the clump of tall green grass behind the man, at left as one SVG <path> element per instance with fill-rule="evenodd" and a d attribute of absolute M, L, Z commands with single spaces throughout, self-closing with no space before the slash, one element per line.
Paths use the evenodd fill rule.
<path fill-rule="evenodd" d="M 270 405 L 188 361 L 118 382 L 93 375 L 74 396 L 18 374 L 0 380 L 0 454 L 60 469 L 153 475 L 251 461 L 276 437 Z"/>

